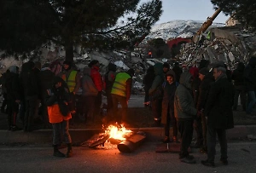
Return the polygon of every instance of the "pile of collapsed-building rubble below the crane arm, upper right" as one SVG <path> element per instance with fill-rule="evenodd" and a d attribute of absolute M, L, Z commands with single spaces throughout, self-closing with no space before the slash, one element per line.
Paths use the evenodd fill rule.
<path fill-rule="evenodd" d="M 201 59 L 210 63 L 224 61 L 232 70 L 237 62 L 247 63 L 250 56 L 256 52 L 255 33 L 231 26 L 212 28 L 209 30 L 209 36 L 207 38 L 207 35 L 203 34 L 197 43 L 183 44 L 176 59 L 185 66 L 193 66 Z"/>

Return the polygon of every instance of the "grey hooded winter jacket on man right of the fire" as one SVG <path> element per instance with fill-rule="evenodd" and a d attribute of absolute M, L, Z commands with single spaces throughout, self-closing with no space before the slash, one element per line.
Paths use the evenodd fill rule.
<path fill-rule="evenodd" d="M 189 72 L 183 72 L 174 95 L 174 116 L 177 120 L 193 119 L 196 115 L 195 103 L 191 91 Z"/>

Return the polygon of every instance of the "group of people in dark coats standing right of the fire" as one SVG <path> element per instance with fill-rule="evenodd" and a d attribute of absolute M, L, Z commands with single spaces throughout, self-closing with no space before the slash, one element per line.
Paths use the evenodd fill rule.
<path fill-rule="evenodd" d="M 247 66 L 238 62 L 231 72 L 223 62 L 209 64 L 201 60 L 199 66 L 188 69 L 179 67 L 178 62 L 171 69 L 168 63 L 149 66 L 143 78 L 145 85 L 145 106 L 150 106 L 154 116 L 154 126 L 164 124 L 163 142 L 177 140 L 181 135 L 179 159 L 194 164 L 189 147 L 200 147 L 207 153 L 207 160 L 201 164 L 215 166 L 216 136 L 221 147 L 220 161 L 228 164 L 227 129 L 234 127 L 233 111 L 237 110 L 238 98 L 241 108 L 252 114 L 256 103 L 255 89 L 256 57 L 251 57 Z M 169 130 L 172 124 L 172 138 Z M 191 144 L 193 131 L 195 144 Z"/>

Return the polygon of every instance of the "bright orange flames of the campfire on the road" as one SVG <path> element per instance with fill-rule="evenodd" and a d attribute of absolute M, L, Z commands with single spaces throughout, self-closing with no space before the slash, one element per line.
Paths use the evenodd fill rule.
<path fill-rule="evenodd" d="M 109 125 L 106 134 L 109 134 L 109 138 L 117 139 L 120 141 L 125 141 L 125 136 L 130 136 L 132 131 L 126 130 L 125 127 L 121 124 L 121 127 Z"/>

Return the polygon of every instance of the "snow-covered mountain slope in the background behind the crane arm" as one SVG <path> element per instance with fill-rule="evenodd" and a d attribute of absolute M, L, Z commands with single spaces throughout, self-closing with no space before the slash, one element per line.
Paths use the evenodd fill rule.
<path fill-rule="evenodd" d="M 196 20 L 171 20 L 166 23 L 154 25 L 147 39 L 161 37 L 164 40 L 173 37 L 192 37 L 202 26 L 204 21 Z M 224 26 L 222 23 L 212 23 L 210 27 Z"/>

